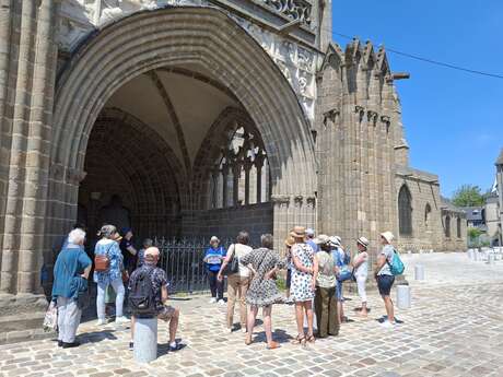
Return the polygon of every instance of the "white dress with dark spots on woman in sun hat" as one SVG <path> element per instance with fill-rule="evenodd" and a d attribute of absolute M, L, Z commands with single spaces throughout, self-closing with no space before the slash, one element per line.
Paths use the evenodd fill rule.
<path fill-rule="evenodd" d="M 292 246 L 292 256 L 296 257 L 305 268 L 313 268 L 314 250 L 307 244 L 295 244 Z M 294 302 L 307 302 L 314 298 L 312 290 L 313 275 L 311 273 L 299 271 L 295 264 L 292 269 L 292 285 L 290 286 L 290 295 Z"/>

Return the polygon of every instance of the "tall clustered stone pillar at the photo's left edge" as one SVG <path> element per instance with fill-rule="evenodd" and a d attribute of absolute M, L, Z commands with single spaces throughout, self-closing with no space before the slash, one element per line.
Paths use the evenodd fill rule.
<path fill-rule="evenodd" d="M 5 219 L 0 273 L 0 327 L 15 315 L 16 319 L 39 318 L 45 299 L 39 295 L 39 271 L 44 252 L 46 198 L 48 187 L 51 116 L 57 46 L 55 43 L 57 7 L 55 0 L 3 1 L 0 7 L 0 34 L 7 38 L 9 64 L 7 89 L 0 83 L 3 132 L 10 151 Z M 9 15 L 11 24 L 4 24 Z M 2 42 L 5 39 L 2 38 Z M 3 72 L 5 74 L 5 72 Z M 7 93 L 7 95 L 5 95 Z M 3 140 L 2 140 L 3 144 Z M 5 192 L 7 191 L 7 192 Z M 39 326 L 37 322 L 36 326 Z M 24 329 L 27 329 L 25 326 Z"/>

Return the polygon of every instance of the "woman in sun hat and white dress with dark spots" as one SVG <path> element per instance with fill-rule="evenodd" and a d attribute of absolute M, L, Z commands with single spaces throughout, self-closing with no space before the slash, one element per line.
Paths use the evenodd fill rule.
<path fill-rule="evenodd" d="M 315 251 L 305 243 L 305 227 L 295 226 L 290 235 L 295 239 L 292 246 L 292 285 L 291 295 L 295 302 L 295 319 L 299 334 L 293 341 L 295 344 L 314 342 L 313 333 L 313 298 L 316 290 L 318 261 Z M 304 333 L 304 314 L 307 317 L 307 337 Z"/>

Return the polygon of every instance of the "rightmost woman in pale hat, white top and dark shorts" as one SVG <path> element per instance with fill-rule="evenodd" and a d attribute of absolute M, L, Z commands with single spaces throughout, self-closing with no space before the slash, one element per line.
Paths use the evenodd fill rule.
<path fill-rule="evenodd" d="M 377 287 L 379 290 L 381 297 L 383 297 L 384 306 L 386 307 L 387 313 L 387 319 L 382 325 L 383 327 L 387 328 L 390 328 L 395 325 L 395 310 L 390 296 L 395 276 L 389 269 L 389 263 L 391 262 L 391 258 L 395 252 L 395 248 L 391 245 L 394 239 L 395 236 L 391 232 L 384 232 L 381 234 L 381 244 L 383 245 L 383 249 L 377 257 L 376 269 L 374 272 L 375 279 L 377 281 Z"/>

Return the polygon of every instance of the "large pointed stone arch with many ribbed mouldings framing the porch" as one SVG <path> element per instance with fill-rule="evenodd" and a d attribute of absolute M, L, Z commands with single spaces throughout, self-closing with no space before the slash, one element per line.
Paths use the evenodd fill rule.
<path fill-rule="evenodd" d="M 52 234 L 77 216 L 90 133 L 126 82 L 160 68 L 197 67 L 231 91 L 259 130 L 270 162 L 277 239 L 315 222 L 315 157 L 309 126 L 291 86 L 261 47 L 222 11 L 176 8 L 112 24 L 82 46 L 56 93 L 48 221 Z M 54 212 L 61 219 L 51 219 Z M 46 247 L 52 239 L 46 237 Z"/>

